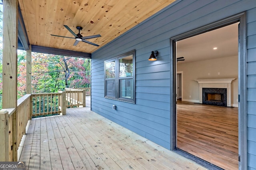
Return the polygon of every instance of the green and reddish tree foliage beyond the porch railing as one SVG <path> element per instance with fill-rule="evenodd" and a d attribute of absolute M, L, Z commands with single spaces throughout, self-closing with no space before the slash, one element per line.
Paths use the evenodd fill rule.
<path fill-rule="evenodd" d="M 90 59 L 32 53 L 32 93 L 52 93 L 65 87 L 90 87 Z M 18 51 L 18 98 L 26 94 L 26 52 Z M 0 62 L 0 109 L 2 62 Z"/>

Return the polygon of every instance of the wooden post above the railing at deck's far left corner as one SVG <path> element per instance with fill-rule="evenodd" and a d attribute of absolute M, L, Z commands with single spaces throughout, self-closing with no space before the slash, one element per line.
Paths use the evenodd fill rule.
<path fill-rule="evenodd" d="M 29 46 L 29 50 L 26 52 L 26 94 L 31 94 L 31 45 Z"/>

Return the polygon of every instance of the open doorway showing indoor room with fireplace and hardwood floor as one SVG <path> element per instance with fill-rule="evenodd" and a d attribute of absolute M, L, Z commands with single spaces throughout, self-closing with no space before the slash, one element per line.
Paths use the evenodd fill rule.
<path fill-rule="evenodd" d="M 238 63 L 242 61 L 239 51 L 245 50 L 238 45 L 239 22 L 240 20 L 233 20 L 222 22 L 221 26 L 209 25 L 201 31 L 191 31 L 172 39 L 175 85 L 179 81 L 177 73 L 183 72 L 182 100 L 178 100 L 178 97 L 176 99 L 178 89 L 176 86 L 173 88 L 172 149 L 201 162 L 200 164 L 215 168 L 239 168 L 238 155 L 241 149 L 238 148 L 241 143 L 238 141 L 244 138 L 241 134 L 238 136 L 241 131 L 238 117 L 244 117 L 238 107 L 242 81 L 240 73 L 244 68 Z M 176 59 L 180 57 L 185 60 L 177 62 Z M 216 82 L 216 79 L 228 79 L 230 82 L 225 82 L 224 87 L 217 87 L 217 84 L 222 83 Z M 202 83 L 201 80 L 207 81 Z M 210 80 L 215 82 L 209 82 Z M 217 104 L 202 104 L 202 100 L 207 98 L 207 94 L 206 97 L 201 97 L 204 88 L 218 88 L 217 91 L 208 92 L 209 100 Z M 226 88 L 223 93 L 228 98 L 224 99 L 224 107 L 218 106 L 219 100 L 223 98 L 218 95 L 221 88 Z"/>

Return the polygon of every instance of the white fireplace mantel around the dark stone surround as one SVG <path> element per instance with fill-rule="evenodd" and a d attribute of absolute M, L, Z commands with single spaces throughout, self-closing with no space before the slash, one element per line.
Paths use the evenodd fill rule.
<path fill-rule="evenodd" d="M 231 107 L 231 82 L 236 78 L 218 78 L 218 79 L 197 79 L 199 83 L 199 102 L 202 103 L 202 88 L 226 88 L 227 106 Z"/>

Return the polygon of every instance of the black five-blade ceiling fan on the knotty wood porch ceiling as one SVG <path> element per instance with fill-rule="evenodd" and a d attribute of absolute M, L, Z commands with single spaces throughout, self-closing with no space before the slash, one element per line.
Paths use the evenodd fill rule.
<path fill-rule="evenodd" d="M 83 37 L 81 34 L 80 34 L 80 30 L 82 30 L 83 28 L 80 27 L 80 26 L 77 26 L 76 29 L 78 29 L 78 34 L 75 34 L 67 25 L 64 25 L 64 27 L 66 27 L 66 29 L 68 29 L 68 31 L 70 31 L 70 33 L 72 33 L 72 35 L 74 35 L 75 37 L 64 37 L 64 36 L 60 36 L 60 35 L 52 35 L 52 36 L 56 36 L 56 37 L 64 37 L 64 38 L 73 38 L 73 39 L 76 39 L 75 43 L 73 45 L 77 45 L 79 43 L 79 41 L 83 41 L 85 43 L 88 43 L 88 44 L 91 44 L 91 45 L 95 45 L 95 46 L 99 46 L 97 44 L 94 44 L 90 41 L 87 41 L 86 39 L 90 39 L 90 38 L 96 38 L 96 37 L 101 37 L 100 34 L 98 35 L 90 35 L 90 36 L 86 36 L 86 37 Z"/>

